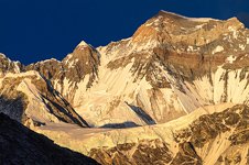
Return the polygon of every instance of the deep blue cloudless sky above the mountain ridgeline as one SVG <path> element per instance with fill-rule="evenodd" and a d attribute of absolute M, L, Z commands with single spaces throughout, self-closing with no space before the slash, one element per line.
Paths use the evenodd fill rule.
<path fill-rule="evenodd" d="M 249 0 L 0 0 L 0 52 L 24 64 L 62 59 L 82 40 L 99 46 L 131 36 L 160 10 L 238 16 L 249 26 Z"/>

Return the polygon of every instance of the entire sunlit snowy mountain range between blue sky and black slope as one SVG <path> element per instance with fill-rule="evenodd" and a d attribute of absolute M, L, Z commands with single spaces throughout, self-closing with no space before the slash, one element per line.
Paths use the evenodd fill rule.
<path fill-rule="evenodd" d="M 0 111 L 99 163 L 248 164 L 249 30 L 236 18 L 160 11 L 63 61 L 0 64 Z"/>

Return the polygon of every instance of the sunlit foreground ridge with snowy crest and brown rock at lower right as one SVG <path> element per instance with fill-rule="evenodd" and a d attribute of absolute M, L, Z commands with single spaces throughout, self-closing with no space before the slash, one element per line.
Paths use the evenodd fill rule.
<path fill-rule="evenodd" d="M 105 165 L 245 165 L 249 163 L 248 123 L 248 106 L 225 103 L 199 108 L 163 124 L 87 133 L 45 127 L 39 132 Z"/>

